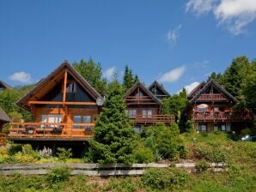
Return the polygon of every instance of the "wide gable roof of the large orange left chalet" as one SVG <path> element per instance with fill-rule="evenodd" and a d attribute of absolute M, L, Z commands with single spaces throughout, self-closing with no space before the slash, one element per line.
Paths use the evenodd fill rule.
<path fill-rule="evenodd" d="M 52 73 L 46 78 L 40 80 L 36 86 L 30 90 L 24 97 L 22 97 L 18 102 L 17 105 L 20 105 L 21 107 L 25 109 L 29 109 L 27 102 L 29 100 L 38 100 L 41 99 L 47 91 L 49 91 L 51 88 L 53 88 L 59 81 L 63 80 L 64 77 L 64 71 L 67 69 L 67 72 L 69 75 L 71 75 L 78 83 L 79 85 L 87 91 L 87 93 L 93 98 L 97 99 L 100 97 L 100 93 L 98 93 L 94 87 L 92 87 L 88 81 L 86 81 L 82 75 L 80 75 L 76 69 L 74 69 L 70 63 L 64 62 L 60 66 L 58 66 L 57 69 L 53 70 Z"/>

